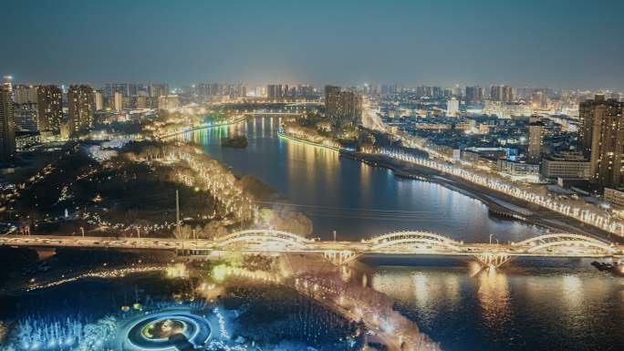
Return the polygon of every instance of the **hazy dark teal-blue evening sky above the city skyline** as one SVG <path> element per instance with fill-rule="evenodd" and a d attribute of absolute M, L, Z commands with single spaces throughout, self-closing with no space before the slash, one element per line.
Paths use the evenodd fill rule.
<path fill-rule="evenodd" d="M 624 88 L 622 0 L 2 0 L 22 82 Z"/>

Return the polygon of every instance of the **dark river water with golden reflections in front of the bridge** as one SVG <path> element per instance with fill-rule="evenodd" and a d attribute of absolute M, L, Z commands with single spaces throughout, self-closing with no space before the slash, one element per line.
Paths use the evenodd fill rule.
<path fill-rule="evenodd" d="M 589 263 L 529 262 L 473 276 L 457 265 L 377 266 L 370 284 L 446 351 L 621 350 L 624 281 Z"/>

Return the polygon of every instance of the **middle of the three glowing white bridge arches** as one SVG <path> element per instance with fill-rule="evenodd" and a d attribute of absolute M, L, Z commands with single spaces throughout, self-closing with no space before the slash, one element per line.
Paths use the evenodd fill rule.
<path fill-rule="evenodd" d="M 390 251 L 404 248 L 411 251 L 450 251 L 461 252 L 462 243 L 432 232 L 391 232 L 367 241 L 369 251 Z"/>

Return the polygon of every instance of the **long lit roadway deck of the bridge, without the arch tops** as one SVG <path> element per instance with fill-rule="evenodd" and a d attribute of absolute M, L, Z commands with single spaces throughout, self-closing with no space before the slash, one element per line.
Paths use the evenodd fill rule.
<path fill-rule="evenodd" d="M 562 234 L 563 235 L 563 234 Z M 551 234 L 552 236 L 552 234 Z M 229 236 L 232 238 L 232 236 Z M 624 245 L 601 243 L 594 238 L 571 241 L 569 238 L 547 242 L 551 237 L 536 238 L 526 243 L 432 243 L 430 239 L 411 241 L 395 239 L 386 242 L 330 242 L 304 238 L 288 240 L 267 234 L 240 235 L 237 243 L 216 240 L 178 240 L 171 238 L 119 238 L 53 235 L 5 235 L 0 245 L 26 247 L 76 247 L 112 249 L 191 250 L 204 252 L 269 252 L 269 253 L 349 253 L 349 254 L 413 254 L 413 255 L 494 255 L 494 256 L 548 256 L 548 257 L 624 257 Z M 560 239 L 562 236 L 556 237 Z M 232 239 L 229 239 L 232 242 Z"/>

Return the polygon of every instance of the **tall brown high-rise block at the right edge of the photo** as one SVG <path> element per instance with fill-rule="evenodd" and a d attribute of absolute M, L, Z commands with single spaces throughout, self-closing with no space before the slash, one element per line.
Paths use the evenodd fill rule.
<path fill-rule="evenodd" d="M 624 103 L 596 95 L 580 103 L 579 147 L 590 156 L 592 181 L 599 186 L 624 186 Z"/>

